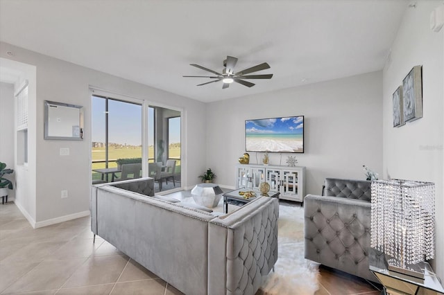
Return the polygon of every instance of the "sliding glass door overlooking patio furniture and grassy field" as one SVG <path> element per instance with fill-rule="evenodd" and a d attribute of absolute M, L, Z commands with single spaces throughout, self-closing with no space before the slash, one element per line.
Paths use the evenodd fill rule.
<path fill-rule="evenodd" d="M 142 101 L 92 96 L 93 183 L 146 175 L 155 179 L 155 192 L 180 188 L 181 113 L 154 105 L 147 107 L 144 115 Z M 142 134 L 147 134 L 146 143 Z M 140 173 L 133 171 L 128 176 L 126 170 L 134 170 L 135 166 L 140 167 Z M 144 166 L 148 172 L 142 173 Z"/>

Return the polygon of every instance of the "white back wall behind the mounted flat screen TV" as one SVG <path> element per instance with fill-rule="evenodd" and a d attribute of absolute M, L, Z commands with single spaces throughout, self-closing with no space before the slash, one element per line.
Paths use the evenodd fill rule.
<path fill-rule="evenodd" d="M 233 85 L 237 86 L 237 85 Z M 241 86 L 239 86 L 241 87 Z M 307 194 L 321 194 L 325 177 L 366 179 L 362 165 L 382 174 L 382 72 L 207 105 L 207 166 L 217 182 L 235 185 L 234 164 L 245 152 L 245 120 L 305 116 L 305 153 L 272 153 L 271 165 L 295 155 L 306 166 Z M 250 152 L 250 163 L 256 153 Z M 257 153 L 257 161 L 262 153 Z M 196 175 L 197 177 L 197 175 Z"/>

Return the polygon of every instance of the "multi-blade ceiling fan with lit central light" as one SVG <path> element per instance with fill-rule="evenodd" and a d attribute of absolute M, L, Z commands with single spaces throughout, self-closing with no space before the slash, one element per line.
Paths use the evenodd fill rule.
<path fill-rule="evenodd" d="M 202 86 L 205 84 L 210 84 L 214 82 L 222 81 L 222 89 L 230 87 L 230 84 L 232 82 L 237 82 L 239 84 L 242 84 L 246 87 L 253 87 L 255 86 L 254 83 L 245 81 L 248 79 L 271 79 L 273 77 L 273 74 L 265 74 L 265 75 L 246 75 L 248 73 L 253 73 L 257 71 L 262 71 L 264 69 L 270 69 L 270 66 L 264 62 L 262 64 L 257 64 L 256 66 L 252 66 L 248 69 L 244 69 L 242 71 L 234 72 L 234 66 L 236 66 L 237 58 L 232 56 L 227 56 L 227 59 L 223 61 L 223 66 L 225 66 L 225 69 L 223 69 L 222 73 L 218 73 L 216 71 L 207 69 L 203 66 L 199 66 L 198 64 L 189 64 L 190 66 L 196 66 L 196 68 L 203 69 L 204 71 L 208 71 L 210 73 L 214 73 L 215 75 L 184 75 L 183 77 L 193 77 L 193 78 L 210 78 L 214 79 L 210 82 L 205 82 L 202 84 L 198 84 L 197 86 Z"/>

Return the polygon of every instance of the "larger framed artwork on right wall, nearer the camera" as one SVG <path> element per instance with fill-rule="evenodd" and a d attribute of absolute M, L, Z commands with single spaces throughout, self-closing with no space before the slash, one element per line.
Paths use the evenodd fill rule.
<path fill-rule="evenodd" d="M 413 66 L 402 80 L 402 100 L 405 122 L 422 118 L 422 66 Z"/>

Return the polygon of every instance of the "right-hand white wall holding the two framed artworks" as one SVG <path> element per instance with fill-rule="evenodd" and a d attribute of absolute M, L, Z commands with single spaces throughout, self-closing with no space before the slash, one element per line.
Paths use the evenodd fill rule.
<path fill-rule="evenodd" d="M 443 29 L 434 33 L 429 16 L 442 1 L 418 1 L 406 10 L 383 71 L 384 177 L 432 181 L 436 186 L 436 260 L 444 278 Z M 422 118 L 393 127 L 392 94 L 411 68 L 422 65 Z"/>

